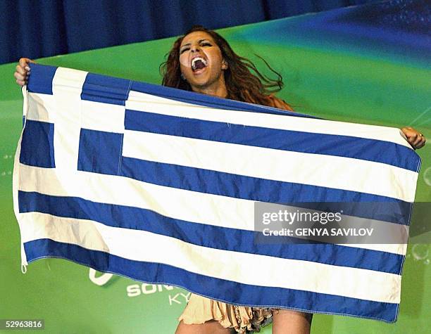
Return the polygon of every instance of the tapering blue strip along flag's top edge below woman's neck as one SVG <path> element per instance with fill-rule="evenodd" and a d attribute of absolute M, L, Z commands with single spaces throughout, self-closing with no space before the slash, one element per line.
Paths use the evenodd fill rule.
<path fill-rule="evenodd" d="M 139 91 L 145 94 L 170 98 L 174 101 L 191 103 L 194 105 L 204 105 L 211 108 L 226 110 L 250 111 L 254 113 L 269 113 L 274 115 L 290 115 L 296 117 L 318 118 L 310 115 L 294 113 L 288 110 L 268 107 L 266 105 L 256 105 L 241 101 L 229 100 L 228 98 L 218 98 L 216 96 L 194 93 L 194 91 L 183 91 L 171 87 L 147 84 L 146 82 L 132 82 L 131 91 Z"/>

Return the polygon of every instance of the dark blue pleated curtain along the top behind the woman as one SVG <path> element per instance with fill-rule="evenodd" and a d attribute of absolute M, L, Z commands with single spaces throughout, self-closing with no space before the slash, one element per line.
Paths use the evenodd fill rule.
<path fill-rule="evenodd" d="M 376 0 L 1 0 L 0 63 L 256 23 Z"/>

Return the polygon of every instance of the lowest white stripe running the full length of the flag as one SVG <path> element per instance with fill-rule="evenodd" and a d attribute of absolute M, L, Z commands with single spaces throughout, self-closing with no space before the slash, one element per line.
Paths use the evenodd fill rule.
<path fill-rule="evenodd" d="M 126 259 L 168 264 L 244 284 L 399 303 L 401 276 L 396 274 L 206 248 L 147 231 L 49 214 L 27 213 L 22 219 L 26 226 L 25 242 L 50 238 Z M 254 270 L 250 274 L 256 264 L 261 264 L 265 270 Z"/>

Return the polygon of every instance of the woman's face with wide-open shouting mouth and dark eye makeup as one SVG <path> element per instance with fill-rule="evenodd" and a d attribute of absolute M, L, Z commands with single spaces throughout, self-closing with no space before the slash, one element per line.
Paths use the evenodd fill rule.
<path fill-rule="evenodd" d="M 191 32 L 180 45 L 180 68 L 194 91 L 225 89 L 223 70 L 227 64 L 213 37 L 206 32 Z"/>

